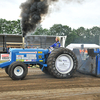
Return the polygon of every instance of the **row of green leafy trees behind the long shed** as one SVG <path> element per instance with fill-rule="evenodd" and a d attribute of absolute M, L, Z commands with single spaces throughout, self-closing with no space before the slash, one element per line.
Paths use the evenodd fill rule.
<path fill-rule="evenodd" d="M 6 19 L 0 19 L 0 34 L 22 34 L 20 20 L 7 21 Z M 50 29 L 43 29 L 40 25 L 35 32 L 31 32 L 31 35 L 67 36 L 66 45 L 70 43 L 99 44 L 100 27 L 72 29 L 67 25 L 54 24 Z"/>

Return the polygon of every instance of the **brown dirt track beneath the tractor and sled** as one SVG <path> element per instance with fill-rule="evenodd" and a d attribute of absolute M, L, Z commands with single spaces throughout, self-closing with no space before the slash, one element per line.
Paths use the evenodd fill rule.
<path fill-rule="evenodd" d="M 56 79 L 29 68 L 24 80 L 13 81 L 0 69 L 0 100 L 100 100 L 100 78 L 77 72 Z"/>

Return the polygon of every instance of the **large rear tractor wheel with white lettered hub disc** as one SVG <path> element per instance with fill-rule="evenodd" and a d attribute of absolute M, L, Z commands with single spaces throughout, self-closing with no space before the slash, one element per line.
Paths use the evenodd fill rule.
<path fill-rule="evenodd" d="M 78 66 L 75 54 L 66 48 L 58 48 L 51 52 L 47 59 L 48 71 L 56 78 L 70 78 Z"/>

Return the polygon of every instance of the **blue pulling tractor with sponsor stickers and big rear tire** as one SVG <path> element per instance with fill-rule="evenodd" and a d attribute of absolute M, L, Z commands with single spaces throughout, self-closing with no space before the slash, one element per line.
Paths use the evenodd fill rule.
<path fill-rule="evenodd" d="M 49 49 L 20 48 L 10 49 L 9 61 L 1 63 L 12 80 L 22 80 L 28 73 L 29 65 L 40 66 L 40 69 L 56 78 L 70 78 L 78 66 L 75 54 L 66 48 L 60 47 L 50 53 Z"/>

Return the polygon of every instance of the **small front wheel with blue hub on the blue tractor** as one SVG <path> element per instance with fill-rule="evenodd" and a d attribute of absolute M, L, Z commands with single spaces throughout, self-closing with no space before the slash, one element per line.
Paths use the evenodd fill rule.
<path fill-rule="evenodd" d="M 8 74 L 12 80 L 22 80 L 27 75 L 28 68 L 23 62 L 13 62 L 8 68 Z"/>

